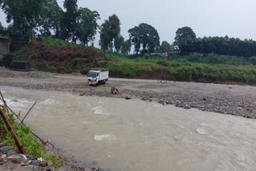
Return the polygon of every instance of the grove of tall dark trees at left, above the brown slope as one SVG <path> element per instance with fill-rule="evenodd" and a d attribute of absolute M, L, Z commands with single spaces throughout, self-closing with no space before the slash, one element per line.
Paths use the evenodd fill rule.
<path fill-rule="evenodd" d="M 65 0 L 63 11 L 56 0 L 0 0 L 6 14 L 7 30 L 33 37 L 40 33 L 66 41 L 94 41 L 99 14 L 88 8 L 79 8 L 77 0 Z"/>

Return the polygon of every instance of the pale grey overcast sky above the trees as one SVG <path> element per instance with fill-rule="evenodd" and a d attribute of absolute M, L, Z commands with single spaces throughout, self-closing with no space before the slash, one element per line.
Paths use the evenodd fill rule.
<path fill-rule="evenodd" d="M 64 0 L 57 1 L 62 7 Z M 102 18 L 99 24 L 117 14 L 125 38 L 130 28 L 146 22 L 158 30 L 161 41 L 173 42 L 182 26 L 190 26 L 198 37 L 228 35 L 256 40 L 255 0 L 78 0 L 80 6 L 97 10 Z M 0 16 L 6 26 L 2 11 Z"/>

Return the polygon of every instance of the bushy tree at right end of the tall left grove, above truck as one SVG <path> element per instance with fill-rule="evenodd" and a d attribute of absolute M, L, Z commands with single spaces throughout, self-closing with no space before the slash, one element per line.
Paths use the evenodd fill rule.
<path fill-rule="evenodd" d="M 97 24 L 98 19 L 100 18 L 97 11 L 91 11 L 88 8 L 80 8 L 78 10 L 77 35 L 79 40 L 86 46 L 88 46 L 88 42 L 93 44 L 94 36 L 99 27 Z"/>

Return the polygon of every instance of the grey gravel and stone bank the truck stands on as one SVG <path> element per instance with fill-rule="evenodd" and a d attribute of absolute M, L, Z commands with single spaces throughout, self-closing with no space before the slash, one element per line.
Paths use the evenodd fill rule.
<path fill-rule="evenodd" d="M 0 68 L 0 85 L 26 89 L 68 91 L 78 95 L 118 96 L 110 94 L 115 86 L 123 95 L 144 101 L 159 101 L 184 108 L 256 118 L 256 87 L 194 82 L 158 82 L 110 78 L 106 85 L 90 86 L 80 74 L 17 72 Z"/>

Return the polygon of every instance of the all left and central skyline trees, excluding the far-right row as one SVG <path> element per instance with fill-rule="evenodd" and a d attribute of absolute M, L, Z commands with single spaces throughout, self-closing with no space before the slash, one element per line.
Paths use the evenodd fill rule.
<path fill-rule="evenodd" d="M 0 7 L 7 16 L 6 22 L 10 23 L 7 30 L 29 35 L 30 38 L 40 34 L 67 42 L 80 42 L 85 46 L 91 42 L 93 46 L 99 30 L 102 50 L 129 54 L 131 46 L 134 46 L 136 54 L 170 51 L 168 42 L 162 42 L 160 46 L 158 31 L 153 26 L 146 23 L 135 26 L 128 31 L 130 38 L 125 40 L 120 34 L 121 22 L 116 14 L 98 26 L 98 12 L 78 8 L 77 0 L 64 0 L 64 10 L 56 0 L 0 0 Z"/>

